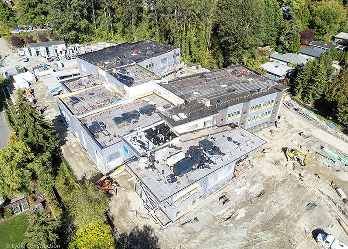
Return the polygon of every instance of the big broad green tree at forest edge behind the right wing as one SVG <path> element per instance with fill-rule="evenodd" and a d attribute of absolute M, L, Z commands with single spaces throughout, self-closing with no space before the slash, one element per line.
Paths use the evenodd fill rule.
<path fill-rule="evenodd" d="M 263 5 L 260 0 L 218 0 L 217 42 L 224 65 L 250 57 L 263 39 Z"/>

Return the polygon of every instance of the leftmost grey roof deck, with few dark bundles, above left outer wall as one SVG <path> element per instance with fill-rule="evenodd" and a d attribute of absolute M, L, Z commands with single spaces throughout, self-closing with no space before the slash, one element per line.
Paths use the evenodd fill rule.
<path fill-rule="evenodd" d="M 71 97 L 75 97 L 79 101 L 73 104 Z M 121 96 L 112 87 L 105 84 L 89 87 L 68 96 L 63 95 L 61 99 L 74 115 L 81 115 L 105 105 L 117 103 L 121 100 Z"/>

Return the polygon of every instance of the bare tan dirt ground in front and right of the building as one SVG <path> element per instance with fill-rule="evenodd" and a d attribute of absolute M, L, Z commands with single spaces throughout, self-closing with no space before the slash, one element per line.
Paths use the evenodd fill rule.
<path fill-rule="evenodd" d="M 348 144 L 285 106 L 280 115 L 285 118 L 278 128 L 271 128 L 275 130 L 274 137 L 270 129 L 258 132 L 268 143 L 257 151 L 250 172 L 241 179 L 232 180 L 204 200 L 198 209 L 167 229 L 161 230 L 146 216 L 133 191 L 133 181 L 128 180 L 130 175 L 123 173 L 118 176 L 123 190 L 119 189 L 118 196 L 110 205 L 118 231 L 130 232 L 135 226 L 150 225 L 158 237 L 158 245 L 169 249 L 320 248 L 313 238 L 318 231 L 330 233 L 348 243 L 348 236 L 338 223 L 336 214 L 322 197 L 329 196 L 347 217 L 347 205 L 343 204 L 330 183 L 335 181 L 348 193 L 348 168 L 340 162 L 328 167 L 317 161 L 326 161 L 321 146 L 347 153 Z M 300 132 L 313 137 L 305 144 Z M 299 144 L 294 145 L 292 140 Z M 312 148 L 307 166 L 295 162 L 294 169 L 294 161 L 287 162 L 282 150 L 286 147 Z M 268 151 L 265 155 L 261 153 L 263 149 Z M 286 167 L 286 164 L 291 167 Z M 304 181 L 300 180 L 300 173 Z M 322 192 L 317 192 L 318 189 Z M 222 192 L 227 192 L 230 198 L 225 206 L 218 200 Z M 194 217 L 198 218 L 198 223 L 182 226 Z"/>

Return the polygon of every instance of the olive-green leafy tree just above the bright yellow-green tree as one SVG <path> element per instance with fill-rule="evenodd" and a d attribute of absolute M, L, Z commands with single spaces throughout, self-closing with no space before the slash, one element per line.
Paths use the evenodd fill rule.
<path fill-rule="evenodd" d="M 72 189 L 63 199 L 63 203 L 67 218 L 77 228 L 86 228 L 89 224 L 106 221 L 105 212 L 108 203 L 106 193 L 90 182 Z"/>

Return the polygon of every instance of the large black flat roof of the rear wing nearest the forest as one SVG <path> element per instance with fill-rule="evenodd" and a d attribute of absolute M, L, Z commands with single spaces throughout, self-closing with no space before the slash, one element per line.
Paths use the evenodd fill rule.
<path fill-rule="evenodd" d="M 121 43 L 116 46 L 78 55 L 78 58 L 95 65 L 98 63 L 101 68 L 108 70 L 129 65 L 133 62 L 140 62 L 176 48 L 173 45 L 147 39 L 134 43 Z"/>

